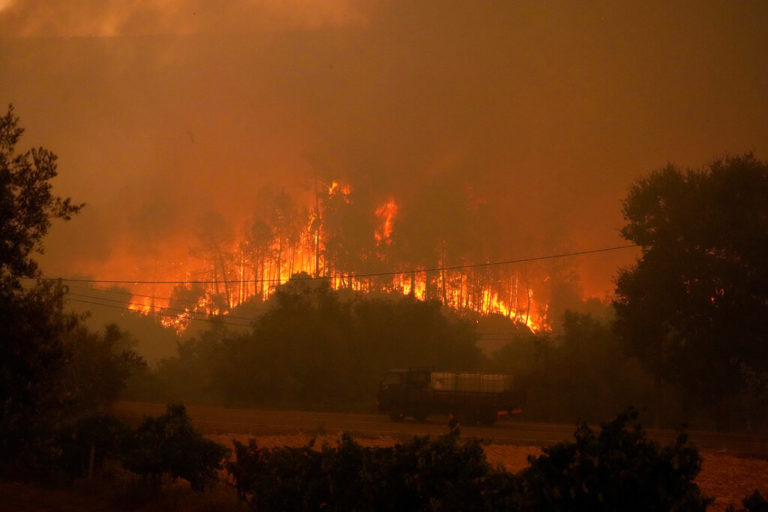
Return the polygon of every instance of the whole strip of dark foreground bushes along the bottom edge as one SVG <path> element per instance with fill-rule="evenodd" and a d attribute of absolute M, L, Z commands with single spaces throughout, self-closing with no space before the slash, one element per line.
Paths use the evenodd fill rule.
<path fill-rule="evenodd" d="M 348 434 L 334 446 L 235 441 L 232 453 L 202 438 L 183 406 L 170 405 L 136 429 L 109 416 L 80 420 L 61 432 L 38 478 L 68 488 L 87 478 L 82 496 L 106 497 L 116 510 L 694 512 L 712 502 L 694 483 L 701 458 L 686 435 L 659 446 L 634 410 L 597 431 L 581 424 L 574 439 L 529 457 L 518 473 L 492 467 L 482 440 L 451 434 L 385 448 Z M 227 484 L 217 484 L 220 475 Z M 174 498 L 177 479 L 199 498 Z M 757 491 L 743 503 L 743 512 L 768 508 Z"/>

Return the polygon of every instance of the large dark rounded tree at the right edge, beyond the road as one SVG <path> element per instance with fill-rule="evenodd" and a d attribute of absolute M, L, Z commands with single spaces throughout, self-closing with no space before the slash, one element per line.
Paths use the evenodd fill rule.
<path fill-rule="evenodd" d="M 617 280 L 631 351 L 689 395 L 717 403 L 745 365 L 768 369 L 768 164 L 747 154 L 636 182 L 622 235 L 642 247 Z"/>

